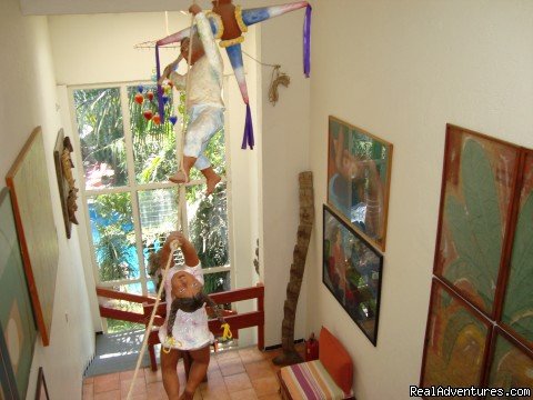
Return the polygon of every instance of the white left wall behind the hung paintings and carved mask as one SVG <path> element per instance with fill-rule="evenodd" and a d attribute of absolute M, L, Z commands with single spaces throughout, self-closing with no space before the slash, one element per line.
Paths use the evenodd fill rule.
<path fill-rule="evenodd" d="M 74 227 L 72 239 L 67 240 L 52 158 L 61 123 L 47 19 L 24 18 L 17 0 L 4 0 L 0 2 L 0 42 L 4 52 L 0 63 L 0 174 L 6 176 L 31 131 L 41 126 L 59 239 L 51 342 L 43 348 L 40 337 L 37 339 L 28 398 L 33 399 L 37 372 L 43 367 L 50 397 L 76 399 L 94 338 L 77 230 Z"/>

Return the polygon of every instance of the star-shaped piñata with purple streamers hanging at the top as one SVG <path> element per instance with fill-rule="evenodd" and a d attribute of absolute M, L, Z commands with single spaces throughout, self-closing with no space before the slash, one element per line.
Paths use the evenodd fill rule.
<path fill-rule="evenodd" d="M 239 83 L 242 100 L 247 104 L 247 116 L 244 123 L 244 134 L 242 138 L 242 149 L 250 147 L 253 149 L 253 126 L 252 114 L 250 110 L 250 100 L 248 96 L 247 81 L 244 76 L 244 68 L 242 62 L 242 49 L 241 43 L 244 41 L 242 33 L 248 31 L 248 27 L 265 21 L 268 19 L 282 16 L 286 12 L 305 8 L 305 19 L 303 26 L 303 72 L 309 78 L 310 74 L 310 37 L 311 37 L 311 6 L 306 1 L 298 1 L 294 3 L 262 7 L 255 9 L 243 10 L 240 6 L 234 6 L 232 0 L 213 0 L 212 12 L 208 12 L 211 30 L 214 38 L 220 40 L 220 47 L 225 48 L 228 57 L 230 58 L 233 72 Z M 179 32 L 170 34 L 155 43 L 155 70 L 157 78 L 161 77 L 161 68 L 159 61 L 159 47 L 170 43 L 180 42 L 182 39 L 190 36 L 191 30 L 195 32 L 195 27 L 183 29 Z M 161 121 L 164 121 L 163 109 L 163 89 L 158 86 L 159 97 L 159 114 Z"/>

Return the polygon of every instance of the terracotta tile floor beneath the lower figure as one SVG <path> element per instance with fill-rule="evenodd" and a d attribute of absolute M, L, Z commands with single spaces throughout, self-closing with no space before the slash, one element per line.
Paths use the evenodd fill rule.
<path fill-rule="evenodd" d="M 303 354 L 303 344 L 296 346 Z M 228 350 L 211 354 L 208 370 L 208 382 L 202 383 L 194 396 L 195 400 L 273 400 L 278 394 L 275 372 L 280 367 L 272 359 L 281 349 L 261 352 L 250 347 L 240 350 Z M 178 376 L 183 387 L 185 373 L 180 362 Z M 83 381 L 83 400 L 120 400 L 125 399 L 130 389 L 133 371 L 109 373 L 87 378 Z M 152 372 L 150 368 L 139 371 L 134 382 L 134 400 L 164 400 L 161 369 Z"/>

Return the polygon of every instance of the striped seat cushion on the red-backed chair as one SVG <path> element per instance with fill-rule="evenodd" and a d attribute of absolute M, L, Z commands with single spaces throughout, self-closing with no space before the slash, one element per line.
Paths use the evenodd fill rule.
<path fill-rule="evenodd" d="M 293 400 L 341 400 L 345 396 L 320 360 L 283 367 L 280 376 Z"/>

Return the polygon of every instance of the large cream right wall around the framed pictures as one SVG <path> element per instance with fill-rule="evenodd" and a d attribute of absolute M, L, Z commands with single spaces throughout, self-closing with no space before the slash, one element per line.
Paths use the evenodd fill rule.
<path fill-rule="evenodd" d="M 316 2 L 316 213 L 326 199 L 329 114 L 394 144 L 378 347 L 321 283 L 321 234 L 309 282 L 308 328 L 323 323 L 346 344 L 360 400 L 408 399 L 419 382 L 446 122 L 533 147 L 532 22 L 526 0 Z"/>

